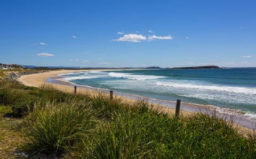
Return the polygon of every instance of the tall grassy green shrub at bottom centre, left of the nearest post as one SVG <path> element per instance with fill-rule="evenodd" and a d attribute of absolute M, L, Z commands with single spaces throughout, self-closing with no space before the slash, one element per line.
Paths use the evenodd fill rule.
<path fill-rule="evenodd" d="M 169 130 L 178 131 L 182 124 L 153 110 L 145 101 L 123 107 L 115 118 L 94 132 L 81 148 L 81 158 L 161 158 L 157 149 Z M 174 121 L 173 121 L 174 120 Z M 177 123 L 178 122 L 178 123 Z M 79 154 L 79 153 L 77 153 Z"/>

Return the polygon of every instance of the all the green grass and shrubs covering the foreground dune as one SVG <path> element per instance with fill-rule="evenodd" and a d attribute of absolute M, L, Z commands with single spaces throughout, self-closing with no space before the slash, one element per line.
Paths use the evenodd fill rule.
<path fill-rule="evenodd" d="M 129 104 L 104 93 L 0 82 L 0 115 L 0 154 L 9 146 L 1 158 L 256 158 L 255 137 L 223 119 L 175 118 L 145 100 Z"/>

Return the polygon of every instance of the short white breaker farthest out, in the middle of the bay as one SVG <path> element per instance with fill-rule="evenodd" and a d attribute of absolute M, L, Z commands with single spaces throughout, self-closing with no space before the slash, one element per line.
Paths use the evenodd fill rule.
<path fill-rule="evenodd" d="M 108 73 L 108 75 L 110 77 L 126 78 L 126 79 L 132 79 L 132 80 L 149 80 L 149 79 L 164 78 L 163 76 L 145 76 L 145 75 L 137 75 L 137 74 L 131 74 L 131 73 L 116 73 L 116 72 L 110 72 Z"/>

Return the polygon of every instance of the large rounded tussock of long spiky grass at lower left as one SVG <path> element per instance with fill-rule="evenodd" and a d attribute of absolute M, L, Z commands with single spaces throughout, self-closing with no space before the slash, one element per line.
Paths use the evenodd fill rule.
<path fill-rule="evenodd" d="M 25 119 L 26 133 L 31 140 L 28 149 L 34 153 L 61 155 L 81 142 L 97 125 L 90 103 L 71 102 L 35 107 Z"/>

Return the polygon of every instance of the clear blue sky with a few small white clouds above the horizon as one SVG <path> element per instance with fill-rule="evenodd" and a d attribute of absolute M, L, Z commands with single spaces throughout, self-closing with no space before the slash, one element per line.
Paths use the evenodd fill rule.
<path fill-rule="evenodd" d="M 256 67 L 256 1 L 0 0 L 0 63 Z"/>

